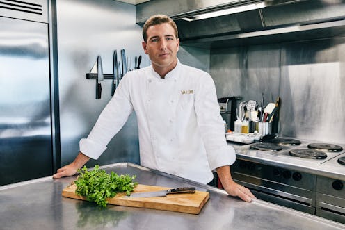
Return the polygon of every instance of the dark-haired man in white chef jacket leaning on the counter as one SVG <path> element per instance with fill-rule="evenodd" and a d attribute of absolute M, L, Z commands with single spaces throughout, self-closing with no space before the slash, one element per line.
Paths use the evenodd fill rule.
<path fill-rule="evenodd" d="M 254 195 L 230 174 L 236 154 L 225 140 L 211 76 L 179 63 L 177 26 L 170 17 L 150 17 L 143 40 L 152 66 L 124 76 L 88 138 L 81 139 L 77 158 L 54 178 L 71 176 L 97 159 L 135 110 L 141 165 L 201 183 L 211 181 L 216 170 L 228 194 L 250 202 Z"/>

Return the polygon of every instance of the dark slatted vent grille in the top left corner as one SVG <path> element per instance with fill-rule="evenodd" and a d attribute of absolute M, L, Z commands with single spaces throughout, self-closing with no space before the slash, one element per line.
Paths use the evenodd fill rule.
<path fill-rule="evenodd" d="M 31 13 L 36 15 L 42 15 L 42 5 L 36 3 L 30 3 L 26 1 L 0 1 L 0 8 L 7 10 L 15 10 L 24 13 Z"/>

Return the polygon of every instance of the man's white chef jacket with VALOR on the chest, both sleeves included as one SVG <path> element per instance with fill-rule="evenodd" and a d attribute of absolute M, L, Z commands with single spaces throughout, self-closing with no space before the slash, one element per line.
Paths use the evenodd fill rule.
<path fill-rule="evenodd" d="M 122 78 L 80 151 L 97 159 L 136 111 L 141 165 L 208 183 L 212 170 L 232 165 L 211 76 L 177 62 L 161 79 L 152 66 Z"/>

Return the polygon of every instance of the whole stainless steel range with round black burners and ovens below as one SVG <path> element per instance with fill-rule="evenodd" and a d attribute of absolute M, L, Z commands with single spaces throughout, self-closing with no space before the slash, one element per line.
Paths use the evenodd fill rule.
<path fill-rule="evenodd" d="M 345 223 L 344 148 L 294 138 L 235 146 L 232 177 L 259 199 Z"/>

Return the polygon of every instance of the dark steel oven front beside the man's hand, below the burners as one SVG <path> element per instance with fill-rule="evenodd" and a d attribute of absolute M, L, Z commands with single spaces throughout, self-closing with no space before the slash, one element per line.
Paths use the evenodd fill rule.
<path fill-rule="evenodd" d="M 255 197 L 314 214 L 316 176 L 245 160 L 236 161 L 231 170 L 234 181 Z"/>

